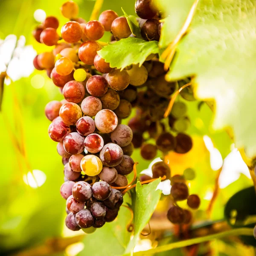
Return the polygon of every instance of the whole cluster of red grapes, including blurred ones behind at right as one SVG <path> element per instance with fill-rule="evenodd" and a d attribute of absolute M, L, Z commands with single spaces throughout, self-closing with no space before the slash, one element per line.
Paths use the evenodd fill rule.
<path fill-rule="evenodd" d="M 137 0 L 135 9 L 143 39 L 158 41 L 161 14 L 152 1 Z M 62 26 L 61 36 L 56 31 L 58 19 L 53 16 L 33 31 L 39 43 L 55 46 L 52 51 L 38 54 L 33 63 L 37 70 L 47 71 L 64 96 L 61 102 L 49 102 L 45 114 L 51 121 L 49 137 L 58 143 L 64 164 L 61 196 L 67 200 L 66 226 L 90 232 L 116 218 L 123 203 L 122 192 L 131 185 L 126 175 L 134 169 L 134 148 L 140 148 L 145 160 L 152 160 L 158 150 L 163 154 L 172 150 L 187 153 L 192 139 L 184 134 L 189 127 L 185 103 L 175 102 L 167 122 L 163 118 L 170 96 L 184 81 L 167 82 L 158 56 L 149 55 L 142 66 L 133 64 L 119 70 L 98 55 L 103 45 L 98 40 L 105 31 L 112 33 L 112 44 L 134 37 L 125 17 L 106 10 L 99 20 L 86 22 L 78 17 L 79 8 L 73 1 L 64 3 L 61 13 L 70 20 Z M 188 87 L 181 96 L 194 99 Z M 136 116 L 128 125 L 122 124 L 132 108 L 136 108 Z M 155 143 L 147 143 L 150 139 Z M 171 178 L 170 168 L 163 161 L 154 164 L 152 173 L 153 178 Z M 185 182 L 175 182 L 171 195 L 174 201 L 187 199 Z M 189 206 L 197 208 L 200 199 L 199 204 L 195 201 L 190 195 Z M 169 220 L 184 222 L 181 210 L 173 206 Z"/>

